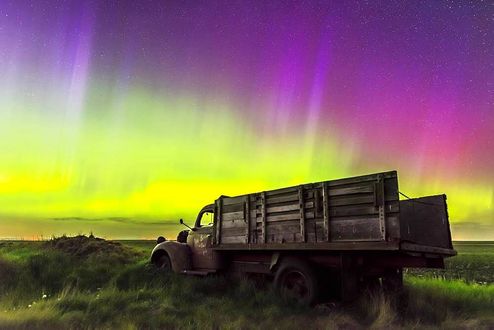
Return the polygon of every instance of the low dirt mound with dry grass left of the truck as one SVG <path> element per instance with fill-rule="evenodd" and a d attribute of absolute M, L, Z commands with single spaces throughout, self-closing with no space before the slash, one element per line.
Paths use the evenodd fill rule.
<path fill-rule="evenodd" d="M 47 241 L 45 247 L 67 253 L 76 258 L 119 255 L 130 259 L 136 256 L 135 251 L 118 242 L 107 241 L 92 235 L 89 237 L 85 235 L 56 237 Z"/>

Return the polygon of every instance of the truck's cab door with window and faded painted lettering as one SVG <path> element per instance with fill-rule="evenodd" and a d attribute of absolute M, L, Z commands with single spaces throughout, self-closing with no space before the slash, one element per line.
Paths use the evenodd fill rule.
<path fill-rule="evenodd" d="M 213 219 L 213 205 L 208 205 L 199 212 L 194 230 L 187 237 L 187 245 L 191 250 L 194 269 L 215 268 L 213 253 L 210 249 L 213 238 Z"/>

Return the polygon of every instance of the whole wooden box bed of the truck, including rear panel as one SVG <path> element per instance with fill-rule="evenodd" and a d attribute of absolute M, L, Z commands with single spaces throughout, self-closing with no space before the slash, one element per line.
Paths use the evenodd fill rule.
<path fill-rule="evenodd" d="M 399 200 L 396 171 L 215 201 L 216 250 L 436 250 L 454 255 L 444 195 Z"/>

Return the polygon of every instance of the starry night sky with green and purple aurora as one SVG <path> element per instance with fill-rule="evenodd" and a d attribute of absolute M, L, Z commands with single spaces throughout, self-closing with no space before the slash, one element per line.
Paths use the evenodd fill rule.
<path fill-rule="evenodd" d="M 0 237 L 173 237 L 398 170 L 494 239 L 493 1 L 0 1 Z"/>

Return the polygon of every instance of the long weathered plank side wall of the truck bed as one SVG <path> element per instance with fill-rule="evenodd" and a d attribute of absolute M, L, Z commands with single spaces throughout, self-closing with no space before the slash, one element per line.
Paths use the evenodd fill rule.
<path fill-rule="evenodd" d="M 223 196 L 215 242 L 387 242 L 400 237 L 399 206 L 396 171 Z"/>

